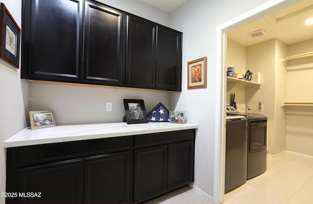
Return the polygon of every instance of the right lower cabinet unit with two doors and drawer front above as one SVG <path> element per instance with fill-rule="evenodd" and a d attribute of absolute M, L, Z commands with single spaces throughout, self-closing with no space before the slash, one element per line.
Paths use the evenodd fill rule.
<path fill-rule="evenodd" d="M 134 146 L 140 149 L 134 150 L 134 203 L 144 203 L 194 181 L 193 131 L 135 136 Z"/>

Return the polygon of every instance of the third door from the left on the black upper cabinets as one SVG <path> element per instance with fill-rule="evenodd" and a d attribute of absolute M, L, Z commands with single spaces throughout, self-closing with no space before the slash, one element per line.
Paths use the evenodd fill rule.
<path fill-rule="evenodd" d="M 126 55 L 126 86 L 155 88 L 155 24 L 128 16 Z"/>

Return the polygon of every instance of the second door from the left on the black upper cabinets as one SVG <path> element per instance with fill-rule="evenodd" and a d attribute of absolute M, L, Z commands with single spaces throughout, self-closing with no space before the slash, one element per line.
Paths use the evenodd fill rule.
<path fill-rule="evenodd" d="M 84 81 L 123 85 L 125 41 L 123 14 L 85 2 Z"/>

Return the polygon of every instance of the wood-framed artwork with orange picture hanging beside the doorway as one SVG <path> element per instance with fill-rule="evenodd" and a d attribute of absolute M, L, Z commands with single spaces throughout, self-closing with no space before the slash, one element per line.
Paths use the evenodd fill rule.
<path fill-rule="evenodd" d="M 206 88 L 206 57 L 188 62 L 188 89 Z"/>

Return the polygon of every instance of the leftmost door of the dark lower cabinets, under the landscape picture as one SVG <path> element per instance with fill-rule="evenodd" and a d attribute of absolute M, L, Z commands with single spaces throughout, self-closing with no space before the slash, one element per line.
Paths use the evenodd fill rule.
<path fill-rule="evenodd" d="M 83 202 L 81 159 L 21 168 L 17 175 L 18 184 L 14 192 L 18 192 L 18 197 L 11 198 L 10 203 L 78 204 Z M 34 196 L 27 193 L 33 193 Z"/>

